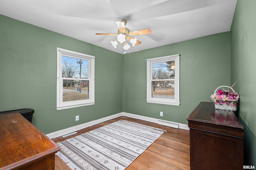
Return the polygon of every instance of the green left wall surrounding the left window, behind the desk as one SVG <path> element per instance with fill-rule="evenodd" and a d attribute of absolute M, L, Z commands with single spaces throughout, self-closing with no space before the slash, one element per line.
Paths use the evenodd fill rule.
<path fill-rule="evenodd" d="M 121 54 L 2 15 L 0 25 L 0 111 L 35 109 L 46 134 L 122 112 Z M 95 105 L 56 110 L 56 47 L 95 56 Z"/>

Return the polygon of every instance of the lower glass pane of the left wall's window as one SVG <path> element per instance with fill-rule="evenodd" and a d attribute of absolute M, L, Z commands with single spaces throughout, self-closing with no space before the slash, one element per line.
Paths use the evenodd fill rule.
<path fill-rule="evenodd" d="M 89 81 L 63 80 L 63 102 L 89 99 Z"/>

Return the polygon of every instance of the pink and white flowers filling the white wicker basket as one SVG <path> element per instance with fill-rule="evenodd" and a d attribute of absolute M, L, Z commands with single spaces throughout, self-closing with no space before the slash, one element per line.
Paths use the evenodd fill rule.
<path fill-rule="evenodd" d="M 222 90 L 218 90 L 217 93 L 212 94 L 211 97 L 213 102 L 216 102 L 216 100 L 218 101 L 234 101 L 234 100 L 238 100 L 239 99 L 239 94 L 236 92 L 228 92 L 228 91 L 222 91 Z"/>

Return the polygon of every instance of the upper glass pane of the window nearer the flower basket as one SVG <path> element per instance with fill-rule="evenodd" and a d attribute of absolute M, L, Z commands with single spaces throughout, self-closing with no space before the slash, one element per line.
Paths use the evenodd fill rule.
<path fill-rule="evenodd" d="M 152 63 L 152 80 L 175 78 L 174 61 Z"/>

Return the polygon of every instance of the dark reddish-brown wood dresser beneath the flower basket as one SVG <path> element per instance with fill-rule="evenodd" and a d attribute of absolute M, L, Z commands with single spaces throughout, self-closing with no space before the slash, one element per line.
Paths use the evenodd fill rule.
<path fill-rule="evenodd" d="M 233 111 L 200 104 L 188 116 L 190 170 L 241 170 L 244 127 Z"/>

